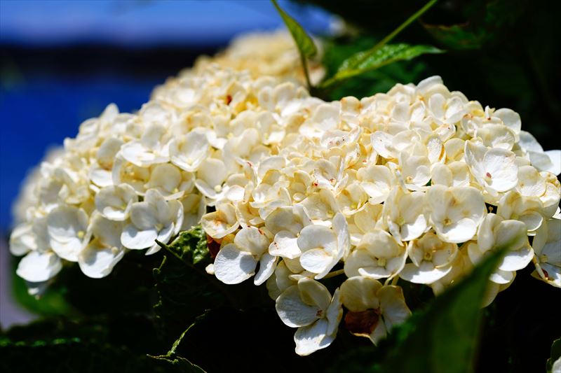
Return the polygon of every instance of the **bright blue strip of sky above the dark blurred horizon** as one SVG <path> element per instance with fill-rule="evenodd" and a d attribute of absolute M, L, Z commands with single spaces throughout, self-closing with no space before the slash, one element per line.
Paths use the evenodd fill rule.
<path fill-rule="evenodd" d="M 330 16 L 280 1 L 312 32 Z M 266 0 L 1 0 L 0 38 L 18 45 L 111 43 L 127 46 L 224 43 L 233 34 L 275 29 L 280 17 Z"/>

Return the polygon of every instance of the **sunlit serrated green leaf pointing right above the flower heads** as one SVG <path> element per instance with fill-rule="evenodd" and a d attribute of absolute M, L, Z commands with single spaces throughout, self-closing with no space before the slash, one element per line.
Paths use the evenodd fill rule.
<path fill-rule="evenodd" d="M 322 84 L 327 87 L 340 80 L 379 69 L 381 66 L 398 61 L 408 61 L 425 54 L 442 53 L 443 50 L 431 45 L 386 44 L 377 50 L 364 50 L 345 59 L 335 75 Z"/>

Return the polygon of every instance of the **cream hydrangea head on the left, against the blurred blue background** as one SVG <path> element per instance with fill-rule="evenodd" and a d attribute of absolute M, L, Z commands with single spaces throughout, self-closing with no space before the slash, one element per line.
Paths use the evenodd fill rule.
<path fill-rule="evenodd" d="M 293 83 L 209 65 L 156 92 L 136 114 L 109 105 L 83 122 L 29 188 L 33 203 L 11 235 L 12 253 L 26 255 L 18 275 L 47 281 L 66 260 L 100 278 L 126 251 L 156 253 L 156 240 L 168 243 L 197 225 L 206 206 L 234 192 L 238 159 L 257 161 L 277 146 L 284 129 L 259 113 L 274 89 L 286 99 L 306 94 Z"/>

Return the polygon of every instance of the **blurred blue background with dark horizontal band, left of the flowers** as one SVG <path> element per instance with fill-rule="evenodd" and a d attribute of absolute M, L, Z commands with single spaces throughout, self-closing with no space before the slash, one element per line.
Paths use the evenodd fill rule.
<path fill-rule="evenodd" d="M 331 16 L 280 1 L 309 31 Z M 114 102 L 135 111 L 155 85 L 236 34 L 279 29 L 269 1 L 0 0 L 0 232 L 46 149 Z"/>

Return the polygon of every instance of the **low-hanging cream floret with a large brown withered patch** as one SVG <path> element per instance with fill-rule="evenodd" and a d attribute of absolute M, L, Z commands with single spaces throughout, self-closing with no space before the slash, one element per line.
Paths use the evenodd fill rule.
<path fill-rule="evenodd" d="M 379 281 L 363 276 L 353 276 L 342 283 L 341 300 L 349 310 L 346 328 L 353 335 L 369 338 L 373 344 L 411 315 L 399 286 L 382 286 Z"/>

